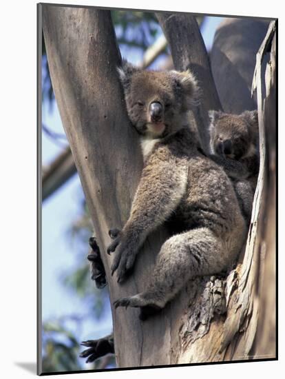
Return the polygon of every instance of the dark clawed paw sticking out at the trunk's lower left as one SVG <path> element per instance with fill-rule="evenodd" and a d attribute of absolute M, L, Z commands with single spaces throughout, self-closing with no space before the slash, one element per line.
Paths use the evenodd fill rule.
<path fill-rule="evenodd" d="M 94 360 L 106 354 L 114 354 L 114 339 L 112 336 L 100 338 L 99 340 L 83 341 L 81 345 L 88 347 L 79 355 L 81 358 L 87 358 L 86 363 L 94 362 Z"/>

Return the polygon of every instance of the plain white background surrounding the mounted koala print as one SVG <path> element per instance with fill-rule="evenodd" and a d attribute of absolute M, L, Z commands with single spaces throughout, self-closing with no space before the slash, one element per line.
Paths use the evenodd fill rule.
<path fill-rule="evenodd" d="M 279 104 L 284 104 L 284 7 L 282 1 L 53 1 L 54 3 L 180 10 L 211 14 L 279 17 Z M 283 8 L 283 9 L 282 9 Z M 34 376 L 19 363 L 36 362 L 36 1 L 1 3 L 1 377 Z M 284 71 L 283 71 L 284 72 Z M 283 107 L 281 107 L 282 111 Z M 279 141 L 284 141 L 279 119 Z M 280 153 L 282 154 L 282 152 Z M 279 155 L 280 155 L 279 154 Z M 279 230 L 284 240 L 284 154 L 279 156 Z M 3 212 L 4 210 L 4 212 Z M 282 236 L 283 230 L 283 236 Z M 282 244 L 283 245 L 283 244 Z M 279 362 L 253 362 L 136 371 L 72 374 L 72 378 L 281 378 L 284 365 L 284 252 L 279 247 Z M 60 252 L 59 252 L 60 254 Z M 282 297 L 282 298 L 281 298 Z M 50 299 L 52 301 L 52 299 Z M 283 374 L 282 374 L 283 371 Z M 57 378 L 70 378 L 70 375 Z"/>

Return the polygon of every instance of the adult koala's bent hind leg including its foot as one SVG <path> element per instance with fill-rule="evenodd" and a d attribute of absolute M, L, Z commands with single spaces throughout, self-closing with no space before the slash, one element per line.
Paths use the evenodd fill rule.
<path fill-rule="evenodd" d="M 141 319 L 150 309 L 162 309 L 194 276 L 217 274 L 229 264 L 222 240 L 205 227 L 176 234 L 161 247 L 145 292 L 115 301 L 115 307 L 140 307 Z M 151 312 L 152 313 L 152 312 Z"/>

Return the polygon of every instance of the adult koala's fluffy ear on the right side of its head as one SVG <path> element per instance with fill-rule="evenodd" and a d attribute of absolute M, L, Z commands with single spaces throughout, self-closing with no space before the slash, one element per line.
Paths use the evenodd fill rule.
<path fill-rule="evenodd" d="M 192 72 L 190 70 L 182 72 L 171 70 L 170 74 L 178 88 L 182 89 L 182 92 L 185 95 L 186 104 L 193 103 L 193 101 L 195 102 L 198 98 L 199 88 Z M 188 106 L 186 105 L 186 107 Z"/>

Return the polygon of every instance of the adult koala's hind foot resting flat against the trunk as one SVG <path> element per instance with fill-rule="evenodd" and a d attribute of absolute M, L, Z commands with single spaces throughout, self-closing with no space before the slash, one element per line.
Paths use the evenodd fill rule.
<path fill-rule="evenodd" d="M 144 298 L 143 294 L 138 294 L 135 296 L 129 296 L 127 298 L 120 298 L 114 301 L 114 307 L 139 307 L 140 308 L 140 320 L 147 320 L 149 316 L 153 316 L 161 311 L 162 307 L 156 305 L 154 300 L 150 298 Z"/>

